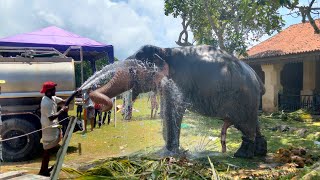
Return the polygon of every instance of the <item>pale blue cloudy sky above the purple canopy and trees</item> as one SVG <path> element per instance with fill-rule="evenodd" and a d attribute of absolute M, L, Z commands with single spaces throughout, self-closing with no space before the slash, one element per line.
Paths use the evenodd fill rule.
<path fill-rule="evenodd" d="M 284 19 L 285 27 L 301 21 Z M 176 47 L 181 31 L 181 19 L 164 15 L 164 0 L 0 0 L 0 22 L 0 38 L 53 25 L 112 44 L 120 60 L 145 44 Z"/>

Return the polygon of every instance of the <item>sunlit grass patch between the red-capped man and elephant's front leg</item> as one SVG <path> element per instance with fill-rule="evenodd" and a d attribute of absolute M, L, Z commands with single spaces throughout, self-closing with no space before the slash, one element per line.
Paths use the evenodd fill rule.
<path fill-rule="evenodd" d="M 120 100 L 117 104 L 121 103 Z M 127 155 L 136 151 L 150 151 L 154 146 L 163 146 L 164 142 L 161 135 L 161 120 L 150 120 L 149 110 L 146 107 L 146 99 L 138 99 L 134 104 L 133 117 L 131 121 L 122 119 L 120 113 L 116 114 L 116 124 L 112 121 L 110 125 L 103 125 L 101 128 L 95 128 L 90 132 L 82 135 L 81 132 L 74 133 L 70 146 L 76 149 L 78 143 L 81 143 L 82 155 L 76 152 L 70 153 L 69 159 L 86 159 L 94 160 L 99 158 L 114 157 Z M 70 112 L 74 115 L 75 112 Z"/>

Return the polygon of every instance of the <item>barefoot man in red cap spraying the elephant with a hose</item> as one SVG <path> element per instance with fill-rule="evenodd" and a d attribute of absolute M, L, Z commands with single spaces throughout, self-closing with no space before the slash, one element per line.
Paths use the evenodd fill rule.
<path fill-rule="evenodd" d="M 41 126 L 45 128 L 42 130 L 42 144 L 43 144 L 43 156 L 41 162 L 41 168 L 39 175 L 50 176 L 49 161 L 50 154 L 53 153 L 55 147 L 58 146 L 62 139 L 61 130 L 59 129 L 57 117 L 68 110 L 67 106 L 57 111 L 58 104 L 65 101 L 59 97 L 56 97 L 57 84 L 52 81 L 43 83 L 40 93 L 45 95 L 42 97 L 40 111 L 41 111 Z M 56 126 L 55 126 L 56 125 Z"/>

